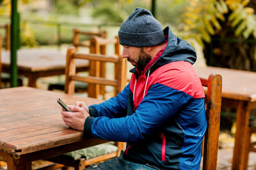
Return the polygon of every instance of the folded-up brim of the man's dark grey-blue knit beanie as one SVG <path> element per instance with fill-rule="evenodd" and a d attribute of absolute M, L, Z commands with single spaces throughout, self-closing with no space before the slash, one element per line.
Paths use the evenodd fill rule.
<path fill-rule="evenodd" d="M 164 32 L 159 30 L 149 33 L 131 33 L 118 31 L 120 45 L 126 46 L 156 46 L 164 43 Z"/>

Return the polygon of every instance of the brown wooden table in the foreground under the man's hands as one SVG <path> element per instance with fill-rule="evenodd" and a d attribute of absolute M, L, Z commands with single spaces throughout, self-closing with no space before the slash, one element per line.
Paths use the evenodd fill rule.
<path fill-rule="evenodd" d="M 32 161 L 106 142 L 85 139 L 82 131 L 65 125 L 56 101 L 91 105 L 101 100 L 31 87 L 0 89 L 0 96 L 0 160 L 8 169 L 31 169 Z"/>

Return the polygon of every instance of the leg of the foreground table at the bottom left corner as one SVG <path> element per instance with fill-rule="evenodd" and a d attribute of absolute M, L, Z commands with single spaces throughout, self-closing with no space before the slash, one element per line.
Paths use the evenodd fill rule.
<path fill-rule="evenodd" d="M 28 162 L 26 155 L 15 157 L 12 154 L 7 154 L 7 169 L 8 170 L 31 170 L 31 162 Z"/>

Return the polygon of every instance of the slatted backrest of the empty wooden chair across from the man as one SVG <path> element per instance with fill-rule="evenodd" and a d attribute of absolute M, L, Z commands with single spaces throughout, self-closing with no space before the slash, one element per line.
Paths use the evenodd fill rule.
<path fill-rule="evenodd" d="M 76 74 L 76 59 L 86 59 L 89 61 L 96 62 L 95 67 L 95 75 L 90 76 L 81 76 Z M 100 62 L 111 62 L 115 64 L 115 78 L 114 80 L 109 78 L 102 78 L 100 77 Z M 74 81 L 83 81 L 87 83 L 93 83 L 97 85 L 109 85 L 116 87 L 115 88 L 115 95 L 118 94 L 122 89 L 124 89 L 126 77 L 124 77 L 124 64 L 125 60 L 122 59 L 120 56 L 110 56 L 110 55 L 102 55 L 102 54 L 95 54 L 95 53 L 77 53 L 76 48 L 69 47 L 67 50 L 67 61 L 66 61 L 66 70 L 65 70 L 65 92 L 67 94 L 74 94 Z M 118 73 L 116 73 L 118 72 Z M 90 89 L 88 89 L 90 90 Z"/>

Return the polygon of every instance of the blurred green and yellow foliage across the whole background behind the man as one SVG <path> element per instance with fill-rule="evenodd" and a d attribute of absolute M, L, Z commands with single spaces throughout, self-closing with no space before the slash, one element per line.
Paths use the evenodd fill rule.
<path fill-rule="evenodd" d="M 10 3 L 0 0 L 1 25 L 10 22 Z M 74 27 L 104 29 L 112 37 L 136 7 L 154 9 L 163 27 L 195 46 L 207 65 L 256 71 L 256 3 L 250 0 L 18 0 L 20 45 L 71 44 Z"/>

